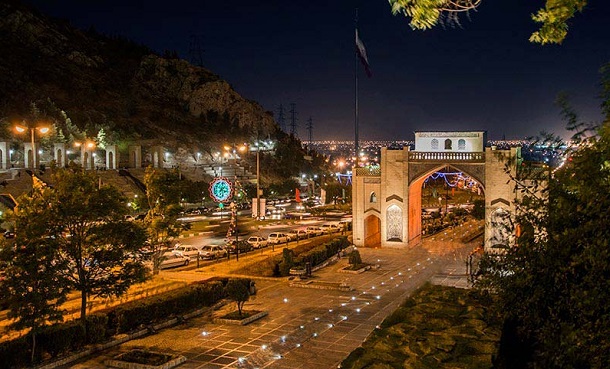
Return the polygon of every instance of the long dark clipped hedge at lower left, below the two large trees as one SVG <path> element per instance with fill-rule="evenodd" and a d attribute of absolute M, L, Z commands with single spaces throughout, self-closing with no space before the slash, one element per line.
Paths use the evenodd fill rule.
<path fill-rule="evenodd" d="M 225 296 L 225 280 L 196 283 L 184 288 L 129 302 L 116 308 L 87 316 L 85 327 L 80 320 L 45 327 L 36 335 L 35 362 L 56 358 L 90 344 L 107 341 L 127 333 L 211 306 Z M 0 369 L 23 368 L 31 364 L 32 337 L 0 343 Z"/>

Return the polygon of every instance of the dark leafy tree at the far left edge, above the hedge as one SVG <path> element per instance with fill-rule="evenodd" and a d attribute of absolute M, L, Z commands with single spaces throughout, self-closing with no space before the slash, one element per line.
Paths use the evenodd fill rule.
<path fill-rule="evenodd" d="M 58 242 L 48 237 L 52 221 L 49 188 L 34 189 L 31 196 L 19 199 L 19 208 L 9 212 L 7 221 L 15 225 L 16 237 L 0 241 L 0 295 L 8 306 L 9 328 L 29 329 L 32 356 L 36 354 L 36 335 L 47 324 L 61 322 L 61 305 L 69 292 L 66 269 L 58 263 Z"/>

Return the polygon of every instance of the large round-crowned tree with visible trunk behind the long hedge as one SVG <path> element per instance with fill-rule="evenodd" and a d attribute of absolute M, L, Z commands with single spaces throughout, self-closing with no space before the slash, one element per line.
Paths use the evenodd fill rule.
<path fill-rule="evenodd" d="M 94 172 L 79 167 L 53 170 L 53 188 L 43 192 L 51 206 L 48 237 L 55 239 L 59 273 L 68 288 L 80 291 L 80 318 L 86 319 L 90 296 L 121 296 L 146 279 L 137 257 L 145 231 L 124 220 L 125 199 L 110 186 L 99 186 Z"/>

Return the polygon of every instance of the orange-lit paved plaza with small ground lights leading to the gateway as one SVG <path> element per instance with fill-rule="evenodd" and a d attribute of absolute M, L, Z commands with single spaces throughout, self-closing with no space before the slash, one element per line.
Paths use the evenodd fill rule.
<path fill-rule="evenodd" d="M 345 283 L 350 292 L 291 287 L 286 278 L 257 279 L 258 293 L 245 309 L 268 311 L 263 319 L 246 326 L 214 323 L 213 316 L 235 309 L 228 303 L 213 316 L 190 319 L 62 368 L 107 368 L 104 360 L 133 348 L 184 355 L 187 361 L 181 369 L 337 368 L 426 281 L 461 281 L 456 285 L 464 287 L 464 260 L 473 248 L 438 237 L 410 250 L 360 249 L 363 261 L 373 265 L 371 270 L 339 273 L 347 265 L 343 258 L 314 273 L 314 281 Z M 210 276 L 205 268 L 175 272 L 175 278 L 187 280 Z"/>

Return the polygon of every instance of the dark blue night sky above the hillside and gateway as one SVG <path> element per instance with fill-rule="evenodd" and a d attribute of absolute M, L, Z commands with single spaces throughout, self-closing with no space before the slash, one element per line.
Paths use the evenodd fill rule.
<path fill-rule="evenodd" d="M 590 0 L 563 45 L 528 42 L 543 0 L 484 0 L 448 25 L 413 31 L 386 0 L 29 0 L 46 14 L 93 25 L 203 65 L 245 98 L 277 113 L 296 103 L 299 137 L 354 137 L 354 17 L 372 78 L 361 65 L 361 139 L 413 139 L 413 131 L 486 130 L 524 138 L 542 130 L 569 137 L 558 93 L 585 121 L 599 121 L 599 68 L 610 62 L 610 1 Z"/>

